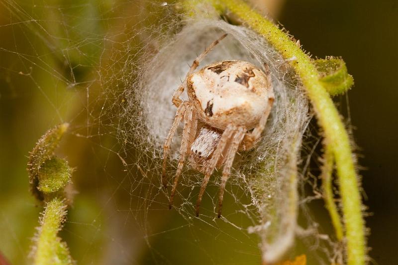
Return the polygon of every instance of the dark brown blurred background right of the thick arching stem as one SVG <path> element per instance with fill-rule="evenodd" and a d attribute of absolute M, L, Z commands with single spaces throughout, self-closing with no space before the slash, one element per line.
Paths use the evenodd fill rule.
<path fill-rule="evenodd" d="M 354 76 L 348 98 L 371 214 L 369 255 L 377 264 L 396 264 L 398 1 L 287 0 L 279 21 L 313 56 L 342 56 Z M 345 105 L 346 98 L 336 102 Z"/>

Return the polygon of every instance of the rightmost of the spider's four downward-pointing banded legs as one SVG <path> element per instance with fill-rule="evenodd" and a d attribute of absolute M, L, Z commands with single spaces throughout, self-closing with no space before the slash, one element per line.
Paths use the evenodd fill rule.
<path fill-rule="evenodd" d="M 225 183 L 227 182 L 229 174 L 231 173 L 233 159 L 235 158 L 235 154 L 238 151 L 239 144 L 243 140 L 245 133 L 246 133 L 246 128 L 239 127 L 237 129 L 235 135 L 232 138 L 232 143 L 229 146 L 228 153 L 225 158 L 224 167 L 222 169 L 220 194 L 218 197 L 218 218 L 220 218 L 220 216 L 221 216 L 222 200 L 224 197 Z"/>

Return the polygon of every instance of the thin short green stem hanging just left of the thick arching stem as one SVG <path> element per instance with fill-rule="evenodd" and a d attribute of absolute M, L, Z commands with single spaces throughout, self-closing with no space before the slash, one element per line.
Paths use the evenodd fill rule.
<path fill-rule="evenodd" d="M 333 173 L 334 157 L 333 152 L 329 145 L 325 145 L 325 151 L 323 153 L 323 166 L 322 166 L 322 191 L 323 198 L 325 200 L 326 209 L 329 211 L 330 218 L 332 219 L 332 225 L 336 232 L 336 237 L 339 241 L 343 240 L 343 227 L 340 221 L 340 215 L 337 211 L 337 205 L 334 203 L 333 198 L 333 185 L 332 185 L 332 173 Z"/>

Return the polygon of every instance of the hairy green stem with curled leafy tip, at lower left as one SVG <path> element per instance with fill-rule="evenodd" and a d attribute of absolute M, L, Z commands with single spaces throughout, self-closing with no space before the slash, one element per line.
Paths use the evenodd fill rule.
<path fill-rule="evenodd" d="M 68 126 L 62 124 L 48 130 L 30 152 L 27 170 L 31 191 L 45 202 L 40 227 L 34 237 L 35 265 L 74 264 L 66 243 L 57 235 L 66 219 L 68 205 L 64 189 L 71 183 L 73 170 L 65 159 L 55 157 L 54 150 Z"/>

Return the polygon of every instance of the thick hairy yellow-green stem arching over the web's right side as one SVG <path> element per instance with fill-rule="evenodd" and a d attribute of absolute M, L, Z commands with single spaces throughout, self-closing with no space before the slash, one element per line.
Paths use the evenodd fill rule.
<path fill-rule="evenodd" d="M 313 60 L 286 32 L 243 1 L 203 0 L 203 2 L 212 4 L 217 10 L 227 9 L 232 12 L 245 25 L 267 39 L 284 58 L 290 59 L 287 62 L 297 73 L 307 93 L 318 124 L 323 130 L 325 144 L 331 148 L 335 159 L 346 232 L 347 263 L 349 265 L 365 264 L 365 225 L 350 140 L 332 99 L 320 81 L 320 75 Z"/>

